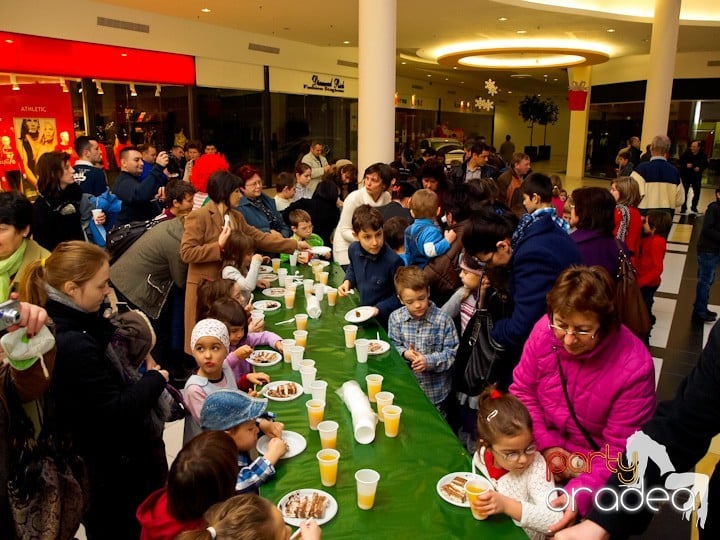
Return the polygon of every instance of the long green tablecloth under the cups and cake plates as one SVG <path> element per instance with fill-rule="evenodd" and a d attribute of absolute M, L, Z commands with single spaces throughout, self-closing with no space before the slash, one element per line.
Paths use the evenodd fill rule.
<path fill-rule="evenodd" d="M 284 265 L 286 268 L 287 266 Z M 312 277 L 310 269 L 298 269 Z M 295 270 L 295 269 L 293 269 Z M 332 265 L 330 284 L 342 282 L 344 273 Z M 273 283 L 277 285 L 277 283 Z M 265 298 L 259 291 L 255 299 Z M 279 298 L 281 302 L 282 298 Z M 467 508 L 453 506 L 436 492 L 437 481 L 455 471 L 470 470 L 470 456 L 463 449 L 447 423 L 425 397 L 412 372 L 395 348 L 379 356 L 370 356 L 367 364 L 356 361 L 355 350 L 345 348 L 342 327 L 348 324 L 344 315 L 359 303 L 358 295 L 338 298 L 335 307 L 320 302 L 323 309 L 319 319 L 308 320 L 308 342 L 305 358 L 315 360 L 317 379 L 328 381 L 325 420 L 340 424 L 337 449 L 340 452 L 338 480 L 334 487 L 323 487 L 315 454 L 320 449 L 317 431 L 308 426 L 305 402 L 301 396 L 287 402 L 270 401 L 269 409 L 285 429 L 302 434 L 307 440 L 306 450 L 291 459 L 280 460 L 277 473 L 260 493 L 277 503 L 286 493 L 300 488 L 322 489 L 338 502 L 334 519 L 325 524 L 323 538 L 527 538 L 506 516 L 492 516 L 476 521 Z M 265 327 L 284 338 L 292 338 L 294 324 L 275 326 L 274 323 L 305 312 L 305 294 L 297 289 L 295 309 L 266 312 Z M 374 319 L 358 324 L 358 337 L 375 338 L 377 332 L 389 341 Z M 264 368 L 272 380 L 300 382 L 300 372 L 281 362 Z M 378 423 L 374 442 L 358 444 L 352 434 L 350 413 L 335 393 L 348 380 L 356 380 L 367 390 L 365 375 L 380 373 L 384 377 L 383 390 L 395 394 L 395 404 L 403 409 L 400 434 L 388 438 L 382 423 Z M 374 408 L 374 404 L 373 404 Z M 360 510 L 355 494 L 355 471 L 375 469 L 380 473 L 375 507 Z"/>

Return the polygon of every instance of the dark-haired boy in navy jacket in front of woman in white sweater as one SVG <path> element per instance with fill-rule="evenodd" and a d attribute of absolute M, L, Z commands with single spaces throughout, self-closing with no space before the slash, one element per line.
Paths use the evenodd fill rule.
<path fill-rule="evenodd" d="M 377 208 L 358 206 L 353 212 L 352 228 L 357 242 L 348 249 L 350 265 L 338 294 L 347 296 L 356 287 L 362 305 L 374 306 L 374 316 L 387 328 L 390 313 L 400 307 L 393 278 L 395 270 L 403 266 L 402 259 L 385 245 L 382 215 Z"/>

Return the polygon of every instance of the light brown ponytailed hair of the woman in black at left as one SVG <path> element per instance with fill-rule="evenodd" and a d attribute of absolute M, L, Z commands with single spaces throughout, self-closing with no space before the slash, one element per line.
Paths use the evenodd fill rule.
<path fill-rule="evenodd" d="M 108 263 L 107 253 L 90 242 L 62 242 L 47 259 L 31 262 L 18 280 L 20 300 L 38 306 L 47 304 L 45 284 L 63 292 L 68 282 L 79 287 L 90 281 Z"/>

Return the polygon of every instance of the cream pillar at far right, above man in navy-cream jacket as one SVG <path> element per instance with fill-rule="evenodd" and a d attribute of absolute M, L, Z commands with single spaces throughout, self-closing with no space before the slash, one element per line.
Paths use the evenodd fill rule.
<path fill-rule="evenodd" d="M 650 39 L 650 70 L 645 90 L 642 148 L 655 135 L 667 134 L 670 99 L 675 73 L 681 0 L 655 0 L 655 18 Z"/>

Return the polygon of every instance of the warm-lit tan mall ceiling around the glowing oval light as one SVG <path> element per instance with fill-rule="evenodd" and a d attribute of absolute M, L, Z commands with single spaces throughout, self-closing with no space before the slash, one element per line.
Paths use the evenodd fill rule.
<path fill-rule="evenodd" d="M 318 46 L 357 47 L 358 2 L 362 0 L 97 1 Z M 557 6 L 540 2 L 554 2 Z M 405 56 L 416 57 L 418 51 L 422 54 L 440 44 L 458 41 L 517 42 L 540 38 L 600 43 L 611 51 L 610 58 L 648 54 L 653 3 L 653 0 L 633 0 L 631 5 L 626 0 L 455 0 L 445 4 L 438 0 L 397 0 L 396 72 L 398 76 L 470 88 L 482 88 L 490 78 L 501 90 L 498 99 L 508 91 L 563 93 L 568 81 L 567 70 L 562 67 L 453 69 Z M 720 3 L 683 0 L 682 4 L 682 17 L 688 21 L 680 27 L 678 52 L 715 50 Z"/>

